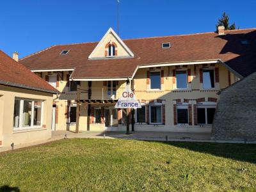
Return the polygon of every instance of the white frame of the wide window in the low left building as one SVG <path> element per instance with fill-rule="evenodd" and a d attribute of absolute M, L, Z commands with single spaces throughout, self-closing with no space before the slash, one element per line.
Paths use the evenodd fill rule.
<path fill-rule="evenodd" d="M 20 100 L 19 127 L 13 127 L 13 131 L 42 128 L 43 127 L 43 116 L 44 116 L 43 115 L 44 114 L 44 100 L 22 99 L 22 98 L 15 98 L 15 100 Z M 24 100 L 31 102 L 31 125 L 29 125 L 29 126 L 23 126 Z M 42 106 L 41 106 L 41 123 L 40 123 L 40 125 L 34 125 L 34 104 L 35 104 L 35 102 L 41 102 L 41 104 L 42 104 Z"/>

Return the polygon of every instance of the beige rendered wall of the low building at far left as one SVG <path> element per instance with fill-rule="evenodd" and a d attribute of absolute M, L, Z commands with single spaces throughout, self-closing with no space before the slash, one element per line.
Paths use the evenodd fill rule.
<path fill-rule="evenodd" d="M 24 111 L 18 110 L 17 112 L 22 113 L 22 119 L 13 113 L 15 100 L 19 102 L 22 100 Z M 24 100 L 28 111 L 25 109 Z M 16 109 L 18 108 L 20 105 Z M 50 139 L 51 112 L 52 93 L 0 85 L 0 141 L 2 146 L 10 147 L 11 143 L 19 145 Z"/>

